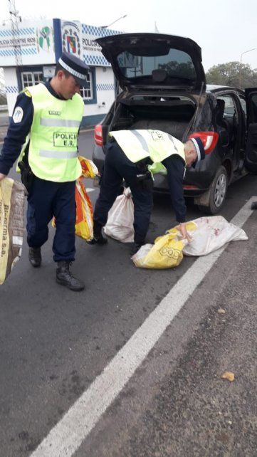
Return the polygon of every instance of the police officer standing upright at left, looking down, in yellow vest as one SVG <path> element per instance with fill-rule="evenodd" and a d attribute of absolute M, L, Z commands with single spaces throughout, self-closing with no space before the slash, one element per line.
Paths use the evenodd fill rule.
<path fill-rule="evenodd" d="M 14 107 L 0 157 L 0 180 L 17 157 L 28 189 L 28 258 L 41 266 L 41 246 L 48 239 L 48 223 L 56 219 L 53 260 L 56 281 L 83 290 L 70 272 L 75 258 L 75 179 L 81 175 L 78 130 L 84 103 L 80 86 L 88 87 L 88 66 L 64 52 L 50 82 L 23 90 Z"/>

